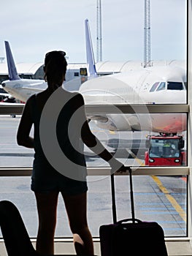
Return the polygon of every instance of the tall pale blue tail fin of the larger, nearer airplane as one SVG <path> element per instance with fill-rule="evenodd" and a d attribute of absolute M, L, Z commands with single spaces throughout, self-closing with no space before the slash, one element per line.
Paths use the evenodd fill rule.
<path fill-rule="evenodd" d="M 88 19 L 85 20 L 85 39 L 86 39 L 86 54 L 87 54 L 87 64 L 88 64 L 88 76 L 96 77 L 96 65 L 93 55 L 93 45 L 91 41 L 91 32 L 89 29 Z"/>

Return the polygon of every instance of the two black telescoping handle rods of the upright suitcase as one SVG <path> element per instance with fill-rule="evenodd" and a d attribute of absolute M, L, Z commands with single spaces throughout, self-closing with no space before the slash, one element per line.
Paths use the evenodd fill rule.
<path fill-rule="evenodd" d="M 131 217 L 133 222 L 135 222 L 136 219 L 134 217 L 134 192 L 133 192 L 132 170 L 131 170 L 131 167 L 127 167 L 127 169 L 129 173 L 129 180 L 130 180 Z M 117 223 L 114 173 L 111 174 L 111 191 L 112 191 L 112 219 L 113 219 L 113 223 Z"/>

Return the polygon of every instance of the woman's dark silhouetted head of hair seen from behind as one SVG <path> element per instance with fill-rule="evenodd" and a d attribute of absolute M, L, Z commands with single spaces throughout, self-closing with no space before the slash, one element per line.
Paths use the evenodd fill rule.
<path fill-rule="evenodd" d="M 45 55 L 44 78 L 51 91 L 55 91 L 64 81 L 67 66 L 65 55 L 61 50 L 53 50 Z"/>

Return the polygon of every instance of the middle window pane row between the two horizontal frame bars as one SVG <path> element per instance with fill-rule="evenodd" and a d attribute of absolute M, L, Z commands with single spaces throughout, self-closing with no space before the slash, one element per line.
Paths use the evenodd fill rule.
<path fill-rule="evenodd" d="M 118 113 L 108 114 L 107 118 L 107 122 L 103 122 L 103 119 L 99 121 L 99 118 L 91 121 L 89 123 L 91 130 L 101 140 L 101 143 L 126 165 L 161 166 L 161 161 L 149 162 L 154 159 L 154 152 L 157 153 L 157 151 L 157 157 L 162 161 L 168 159 L 164 165 L 186 165 L 187 116 L 185 113 L 154 113 L 151 115 L 149 113 Z M 0 116 L 0 167 L 32 167 L 34 150 L 18 146 L 16 142 L 19 121 L 20 116 L 15 118 Z M 134 121 L 133 126 L 130 126 L 131 121 Z M 107 127 L 113 127 L 113 130 Z M 124 130 L 119 131 L 119 127 L 123 127 Z M 143 128 L 142 131 L 138 131 L 140 127 Z M 177 129 L 180 129 L 178 134 Z M 169 130 L 173 130 L 174 133 L 169 134 Z M 31 135 L 33 135 L 33 129 Z M 165 143 L 171 145 L 170 152 L 168 152 L 168 147 L 165 151 Z M 107 162 L 93 154 L 87 146 L 84 151 L 88 167 L 109 166 Z M 149 157 L 151 157 L 150 160 Z"/>

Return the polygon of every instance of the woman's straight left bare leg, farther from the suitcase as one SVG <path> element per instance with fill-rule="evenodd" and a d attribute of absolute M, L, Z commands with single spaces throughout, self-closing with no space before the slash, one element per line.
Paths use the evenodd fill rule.
<path fill-rule="evenodd" d="M 53 255 L 58 192 L 35 192 L 35 195 L 39 214 L 36 249 L 40 255 Z"/>

